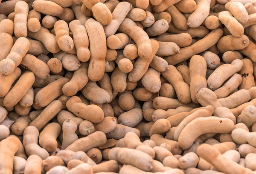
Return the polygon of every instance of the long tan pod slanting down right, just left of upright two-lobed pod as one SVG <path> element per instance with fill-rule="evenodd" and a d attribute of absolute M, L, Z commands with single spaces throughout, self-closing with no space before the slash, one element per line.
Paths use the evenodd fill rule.
<path fill-rule="evenodd" d="M 168 68 L 169 69 L 167 71 L 162 72 L 163 77 L 165 77 L 169 81 L 169 83 L 171 83 L 171 85 L 175 88 L 177 97 L 180 100 L 180 102 L 185 104 L 190 103 L 191 96 L 190 96 L 189 86 L 183 81 L 181 74 L 179 73 L 177 68 L 175 68 L 175 66 L 169 65 Z M 169 76 L 170 73 L 171 74 L 175 73 L 175 75 L 172 75 L 171 77 Z"/>

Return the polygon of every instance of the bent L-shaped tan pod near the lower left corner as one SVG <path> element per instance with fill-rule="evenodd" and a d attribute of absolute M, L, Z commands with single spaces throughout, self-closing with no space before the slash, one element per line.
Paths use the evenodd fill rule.
<path fill-rule="evenodd" d="M 35 154 L 45 160 L 49 153 L 38 145 L 39 131 L 34 126 L 26 127 L 23 132 L 23 146 L 28 156 Z"/>

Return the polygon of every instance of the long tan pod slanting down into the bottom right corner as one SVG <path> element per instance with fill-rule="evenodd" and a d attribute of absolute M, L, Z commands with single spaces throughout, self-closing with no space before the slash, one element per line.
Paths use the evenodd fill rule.
<path fill-rule="evenodd" d="M 206 155 L 207 152 L 211 152 L 210 155 Z M 211 145 L 202 144 L 198 147 L 197 153 L 200 157 L 204 158 L 208 163 L 211 163 L 217 170 L 227 174 L 233 174 L 234 172 L 241 173 L 252 173 L 248 168 L 244 168 L 236 162 L 229 160 L 227 157 L 222 155 L 218 150 Z M 229 165 L 230 168 L 227 168 Z M 231 167 L 232 166 L 232 167 Z"/>

